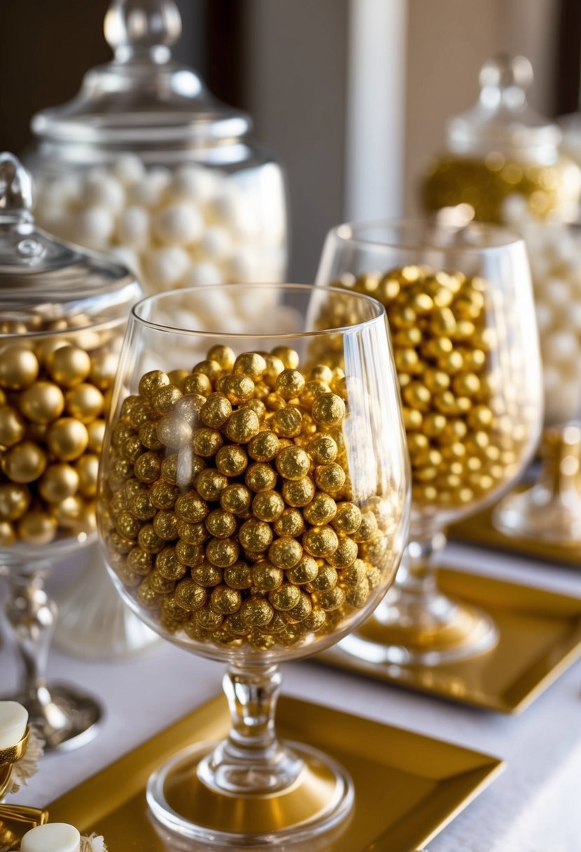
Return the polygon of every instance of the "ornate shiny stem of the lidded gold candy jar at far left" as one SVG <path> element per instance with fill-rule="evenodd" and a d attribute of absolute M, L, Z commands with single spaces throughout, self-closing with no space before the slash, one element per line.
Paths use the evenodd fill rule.
<path fill-rule="evenodd" d="M 6 614 L 20 655 L 19 691 L 29 712 L 34 705 L 44 703 L 40 693 L 46 684 L 50 640 L 55 630 L 56 604 L 44 590 L 49 570 L 49 563 L 43 562 L 23 571 L 13 568 L 9 574 Z M 34 715 L 32 710 L 31 716 Z"/>

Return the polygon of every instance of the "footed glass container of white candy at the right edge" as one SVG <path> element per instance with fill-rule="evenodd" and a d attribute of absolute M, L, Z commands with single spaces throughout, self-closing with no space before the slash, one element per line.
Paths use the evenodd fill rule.
<path fill-rule="evenodd" d="M 531 262 L 545 430 L 538 481 L 509 494 L 494 522 L 512 535 L 581 544 L 581 225 L 539 224 L 507 202 L 505 212 L 526 239 Z"/>

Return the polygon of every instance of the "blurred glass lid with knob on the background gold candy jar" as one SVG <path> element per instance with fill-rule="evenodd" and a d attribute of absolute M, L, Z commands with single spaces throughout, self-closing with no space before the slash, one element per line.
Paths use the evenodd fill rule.
<path fill-rule="evenodd" d="M 498 54 L 485 62 L 480 70 L 478 103 L 447 124 L 452 151 L 486 154 L 550 149 L 555 152 L 561 142 L 561 130 L 526 101 L 526 89 L 532 78 L 532 65 L 525 56 Z"/>

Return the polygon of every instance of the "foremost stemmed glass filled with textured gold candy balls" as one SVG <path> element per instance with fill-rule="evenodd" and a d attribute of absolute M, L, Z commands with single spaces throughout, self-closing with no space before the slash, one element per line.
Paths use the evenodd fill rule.
<path fill-rule="evenodd" d="M 378 302 L 308 285 L 216 294 L 239 304 L 244 333 L 204 320 L 206 288 L 133 308 L 98 527 L 129 607 L 168 641 L 227 663 L 227 740 L 158 769 L 152 815 L 205 843 L 282 843 L 337 825 L 353 802 L 334 760 L 277 739 L 279 663 L 337 642 L 393 581 L 405 433 Z"/>

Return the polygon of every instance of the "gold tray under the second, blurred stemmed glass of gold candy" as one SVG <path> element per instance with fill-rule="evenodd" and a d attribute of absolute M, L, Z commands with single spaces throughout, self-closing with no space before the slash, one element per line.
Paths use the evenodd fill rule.
<path fill-rule="evenodd" d="M 316 659 L 348 671 L 505 713 L 529 705 L 581 656 L 581 598 L 440 568 L 440 589 L 492 616 L 498 644 L 431 668 L 370 663 L 341 643 Z"/>

